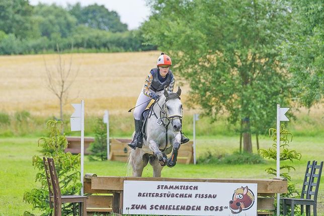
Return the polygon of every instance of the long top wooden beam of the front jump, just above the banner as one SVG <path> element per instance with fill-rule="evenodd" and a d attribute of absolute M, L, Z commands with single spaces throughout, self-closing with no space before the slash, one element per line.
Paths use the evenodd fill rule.
<path fill-rule="evenodd" d="M 258 193 L 287 193 L 287 181 L 274 179 L 199 179 L 199 178 L 152 178 L 152 177 L 92 177 L 91 189 L 123 190 L 124 180 L 137 181 L 183 181 L 183 182 L 224 182 L 257 183 Z"/>

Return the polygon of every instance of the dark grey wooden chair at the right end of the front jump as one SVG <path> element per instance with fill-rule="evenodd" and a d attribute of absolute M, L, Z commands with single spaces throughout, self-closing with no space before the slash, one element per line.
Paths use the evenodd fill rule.
<path fill-rule="evenodd" d="M 291 206 L 291 215 L 294 215 L 295 205 L 301 205 L 301 213 L 303 213 L 303 205 L 306 205 L 306 216 L 310 216 L 310 206 L 313 205 L 314 216 L 317 215 L 317 193 L 320 182 L 320 175 L 323 168 L 323 162 L 317 165 L 317 161 L 307 163 L 303 188 L 300 198 L 281 198 L 283 203 L 283 214 L 287 214 L 287 205 Z M 313 196 L 313 197 L 312 197 Z"/>

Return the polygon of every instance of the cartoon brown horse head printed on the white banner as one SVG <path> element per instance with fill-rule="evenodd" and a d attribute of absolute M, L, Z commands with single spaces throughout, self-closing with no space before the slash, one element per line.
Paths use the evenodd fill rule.
<path fill-rule="evenodd" d="M 234 191 L 232 200 L 229 201 L 229 208 L 233 214 L 238 214 L 242 210 L 248 210 L 254 204 L 254 194 L 246 187 L 237 188 Z"/>

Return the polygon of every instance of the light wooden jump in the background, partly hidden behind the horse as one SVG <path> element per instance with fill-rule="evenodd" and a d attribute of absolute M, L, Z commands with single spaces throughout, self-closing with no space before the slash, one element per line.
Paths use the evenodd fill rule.
<path fill-rule="evenodd" d="M 131 139 L 110 139 L 110 160 L 127 162 L 129 154 L 127 143 L 129 142 L 131 142 Z M 189 141 L 181 145 L 177 163 L 190 164 L 193 163 L 193 161 L 193 141 Z"/>

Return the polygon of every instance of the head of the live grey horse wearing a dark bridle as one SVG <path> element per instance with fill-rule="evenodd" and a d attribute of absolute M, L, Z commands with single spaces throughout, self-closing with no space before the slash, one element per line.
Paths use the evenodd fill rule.
<path fill-rule="evenodd" d="M 182 103 L 180 100 L 181 89 L 178 87 L 177 93 L 169 93 L 166 89 L 164 94 L 165 100 L 165 113 L 166 117 L 171 121 L 174 131 L 181 131 L 181 119 L 182 119 Z"/>

